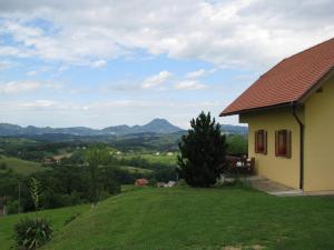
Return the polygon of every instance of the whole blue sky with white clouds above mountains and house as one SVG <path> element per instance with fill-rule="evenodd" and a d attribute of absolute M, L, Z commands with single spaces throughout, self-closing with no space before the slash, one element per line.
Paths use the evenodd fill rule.
<path fill-rule="evenodd" d="M 334 37 L 333 0 L 0 0 L 0 122 L 105 128 L 219 112 Z"/>

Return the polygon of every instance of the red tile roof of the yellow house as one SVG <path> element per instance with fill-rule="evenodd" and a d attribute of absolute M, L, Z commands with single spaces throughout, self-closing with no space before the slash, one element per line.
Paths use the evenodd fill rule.
<path fill-rule="evenodd" d="M 334 69 L 334 38 L 284 59 L 230 103 L 220 116 L 296 102 Z"/>

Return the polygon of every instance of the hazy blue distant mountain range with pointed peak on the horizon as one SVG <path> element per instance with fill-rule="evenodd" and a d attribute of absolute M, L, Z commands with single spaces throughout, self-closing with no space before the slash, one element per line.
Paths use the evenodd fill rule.
<path fill-rule="evenodd" d="M 71 134 L 71 136 L 124 136 L 131 133 L 174 133 L 183 129 L 171 124 L 165 119 L 154 119 L 144 126 L 115 126 L 101 130 L 86 127 L 73 128 L 38 128 L 33 126 L 20 127 L 17 124 L 0 123 L 0 136 L 39 136 L 39 134 Z"/>

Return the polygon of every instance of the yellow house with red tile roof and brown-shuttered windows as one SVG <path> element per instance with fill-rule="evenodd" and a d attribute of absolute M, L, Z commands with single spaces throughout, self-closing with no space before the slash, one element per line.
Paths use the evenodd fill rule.
<path fill-rule="evenodd" d="M 255 170 L 304 191 L 334 190 L 334 38 L 284 59 L 222 117 L 248 123 Z"/>

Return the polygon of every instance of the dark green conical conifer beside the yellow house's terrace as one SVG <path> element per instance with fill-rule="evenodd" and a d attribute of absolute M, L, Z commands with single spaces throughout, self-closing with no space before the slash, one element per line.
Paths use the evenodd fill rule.
<path fill-rule="evenodd" d="M 210 187 L 226 164 L 226 138 L 210 113 L 202 112 L 190 126 L 179 143 L 180 174 L 193 187 Z"/>

